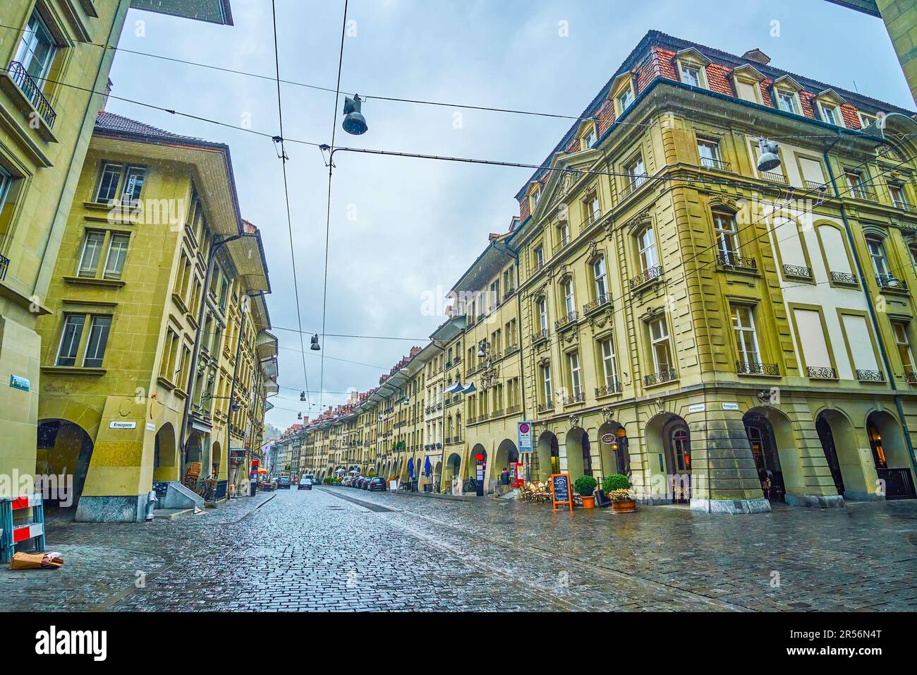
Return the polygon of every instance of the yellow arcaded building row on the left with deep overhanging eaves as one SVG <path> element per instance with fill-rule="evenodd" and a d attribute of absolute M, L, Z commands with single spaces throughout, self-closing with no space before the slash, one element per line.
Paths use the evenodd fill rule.
<path fill-rule="evenodd" d="M 98 115 L 37 327 L 38 472 L 73 475 L 77 520 L 142 520 L 192 463 L 242 486 L 277 391 L 267 274 L 226 145 Z"/>

